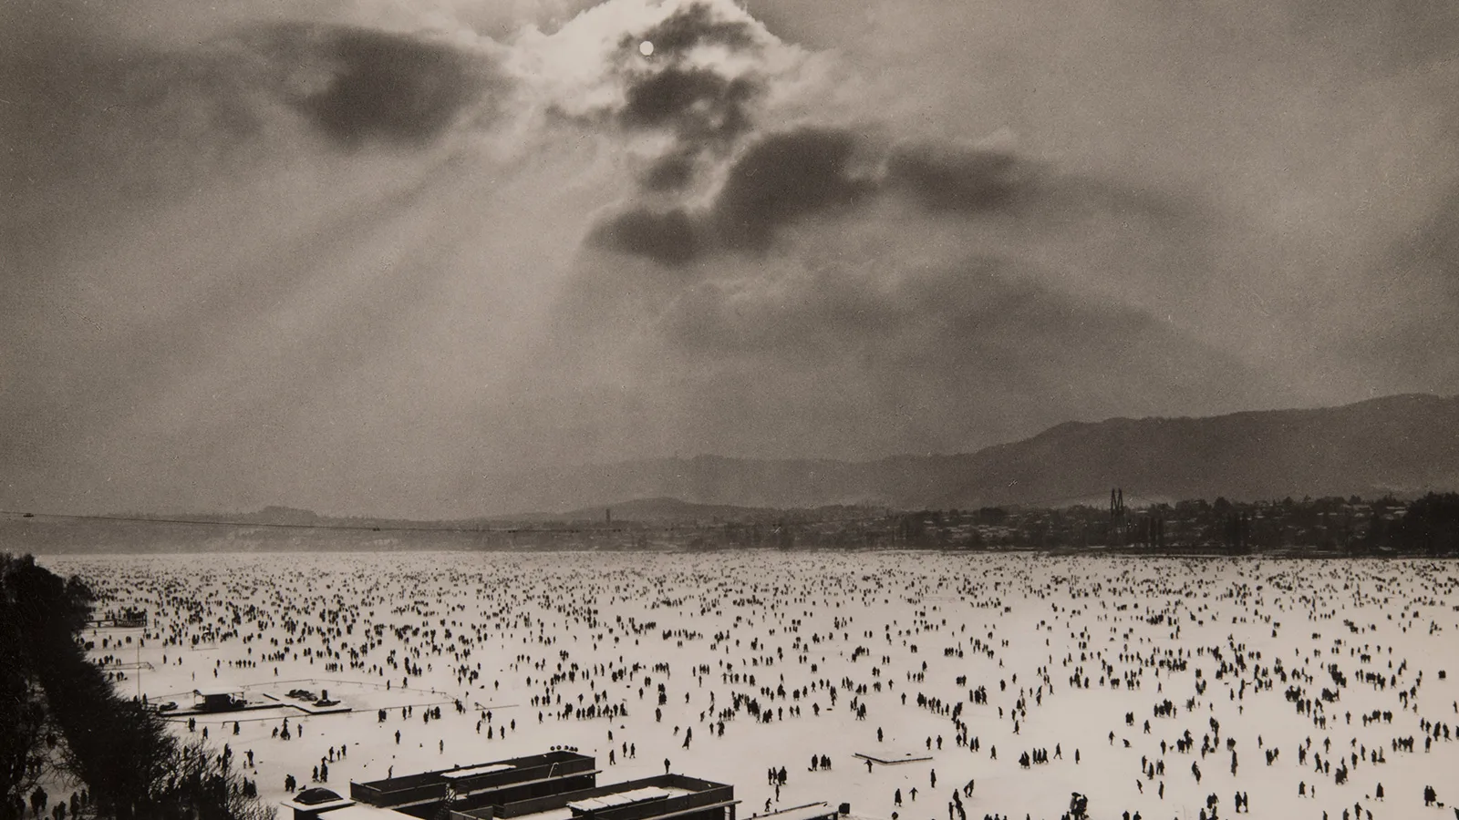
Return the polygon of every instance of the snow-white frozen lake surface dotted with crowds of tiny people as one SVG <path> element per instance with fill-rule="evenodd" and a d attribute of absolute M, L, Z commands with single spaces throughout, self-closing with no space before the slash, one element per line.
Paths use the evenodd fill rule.
<path fill-rule="evenodd" d="M 1239 791 L 1258 817 L 1459 817 L 1453 562 L 924 552 L 41 560 L 85 578 L 104 597 L 99 611 L 152 614 L 144 646 L 137 629 L 88 636 L 123 693 L 185 708 L 194 689 L 260 705 L 328 690 L 353 709 L 196 718 L 236 760 L 252 753 L 248 776 L 271 801 L 286 775 L 306 786 L 321 762 L 343 792 L 350 779 L 568 746 L 598 757 L 600 782 L 668 760 L 734 784 L 741 817 L 766 801 L 824 800 L 867 817 L 957 820 L 954 791 L 973 820 L 1056 819 L 1072 791 L 1088 795 L 1091 817 L 1196 819 L 1210 795 L 1227 817 Z M 427 718 L 435 708 L 439 719 Z M 185 718 L 174 725 L 190 732 Z M 1049 760 L 1024 766 L 1033 750 Z M 924 760 L 868 769 L 856 754 Z M 811 770 L 813 756 L 832 769 Z M 776 800 L 767 770 L 782 766 Z M 1447 805 L 1425 807 L 1425 785 Z"/>

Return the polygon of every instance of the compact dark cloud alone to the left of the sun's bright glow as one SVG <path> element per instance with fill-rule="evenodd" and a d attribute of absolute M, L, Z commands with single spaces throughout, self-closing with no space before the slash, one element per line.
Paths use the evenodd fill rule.
<path fill-rule="evenodd" d="M 467 55 L 409 35 L 340 29 L 327 38 L 325 55 L 333 63 L 328 85 L 298 105 L 343 146 L 427 143 L 483 90 Z"/>

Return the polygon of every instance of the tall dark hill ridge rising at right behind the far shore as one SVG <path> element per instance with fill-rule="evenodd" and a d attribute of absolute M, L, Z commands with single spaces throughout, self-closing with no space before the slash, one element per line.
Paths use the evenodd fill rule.
<path fill-rule="evenodd" d="M 1414 495 L 1459 486 L 1459 397 L 1067 423 L 961 467 L 931 503 L 1030 503 L 1112 486 L 1164 499 Z"/>

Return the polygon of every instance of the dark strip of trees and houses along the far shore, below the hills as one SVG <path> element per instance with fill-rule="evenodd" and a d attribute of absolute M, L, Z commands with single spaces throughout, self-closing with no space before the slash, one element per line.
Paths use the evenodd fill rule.
<path fill-rule="evenodd" d="M 1459 553 L 1459 495 L 1231 502 L 1218 498 L 1107 508 L 1074 505 L 867 511 L 862 517 L 651 525 L 620 522 L 581 541 L 598 549 L 1138 550 L 1158 553 Z"/>

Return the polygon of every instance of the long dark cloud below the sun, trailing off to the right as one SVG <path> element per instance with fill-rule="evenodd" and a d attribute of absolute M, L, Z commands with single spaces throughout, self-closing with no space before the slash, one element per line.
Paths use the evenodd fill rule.
<path fill-rule="evenodd" d="M 684 162 L 684 155 L 668 155 L 641 184 L 657 193 L 676 191 L 690 175 Z M 1189 198 L 1088 174 L 1062 174 L 1011 150 L 937 142 L 887 147 L 848 128 L 802 127 L 762 136 L 744 149 L 706 207 L 665 212 L 630 206 L 588 241 L 661 264 L 684 264 L 713 252 L 765 254 L 782 229 L 801 217 L 851 216 L 889 197 L 910 203 L 910 213 L 969 220 L 1005 216 L 1034 232 L 1113 219 L 1154 231 L 1160 247 L 1151 247 L 1151 254 L 1185 252 L 1199 241 L 1196 217 L 1204 214 Z M 620 222 L 632 229 L 623 231 Z M 671 242 L 678 232 L 683 236 Z M 673 252 L 664 252 L 667 247 Z"/>

